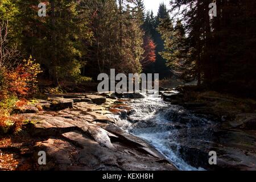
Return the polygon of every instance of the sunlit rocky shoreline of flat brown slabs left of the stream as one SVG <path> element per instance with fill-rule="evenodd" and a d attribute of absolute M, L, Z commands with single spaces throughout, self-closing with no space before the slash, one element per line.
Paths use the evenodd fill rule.
<path fill-rule="evenodd" d="M 37 163 L 39 151 L 47 154 L 47 164 L 34 169 L 176 170 L 150 144 L 115 125 L 110 114 L 131 109 L 123 101 L 110 94 L 69 93 L 49 95 L 48 100 L 15 110 L 26 119 L 26 131 L 36 141 L 27 155 Z"/>

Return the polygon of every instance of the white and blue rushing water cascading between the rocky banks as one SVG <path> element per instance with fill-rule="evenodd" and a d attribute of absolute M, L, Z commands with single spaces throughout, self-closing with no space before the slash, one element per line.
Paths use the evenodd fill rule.
<path fill-rule="evenodd" d="M 188 113 L 183 107 L 171 105 L 154 95 L 131 100 L 127 104 L 133 107 L 134 111 L 128 117 L 115 116 L 119 127 L 146 140 L 167 159 L 171 160 L 178 169 L 185 171 L 204 170 L 201 167 L 190 166 L 177 151 L 179 151 L 181 138 L 189 140 L 195 137 L 189 134 L 189 131 L 194 127 L 200 128 L 196 131 L 199 133 L 196 138 L 204 139 L 200 137 L 200 132 L 205 133 L 205 130 L 212 125 L 208 119 L 197 117 Z M 183 119 L 180 120 L 181 117 Z"/>

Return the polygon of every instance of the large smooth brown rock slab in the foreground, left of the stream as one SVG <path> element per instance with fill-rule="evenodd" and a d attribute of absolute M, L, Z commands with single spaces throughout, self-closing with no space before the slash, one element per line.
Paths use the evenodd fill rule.
<path fill-rule="evenodd" d="M 147 170 L 173 171 L 175 167 L 169 163 L 159 162 L 158 158 L 139 153 L 132 148 L 115 144 L 118 148 L 108 148 L 99 145 L 79 131 L 62 134 L 63 139 L 51 138 L 35 146 L 47 153 L 47 165 L 42 170 Z"/>

